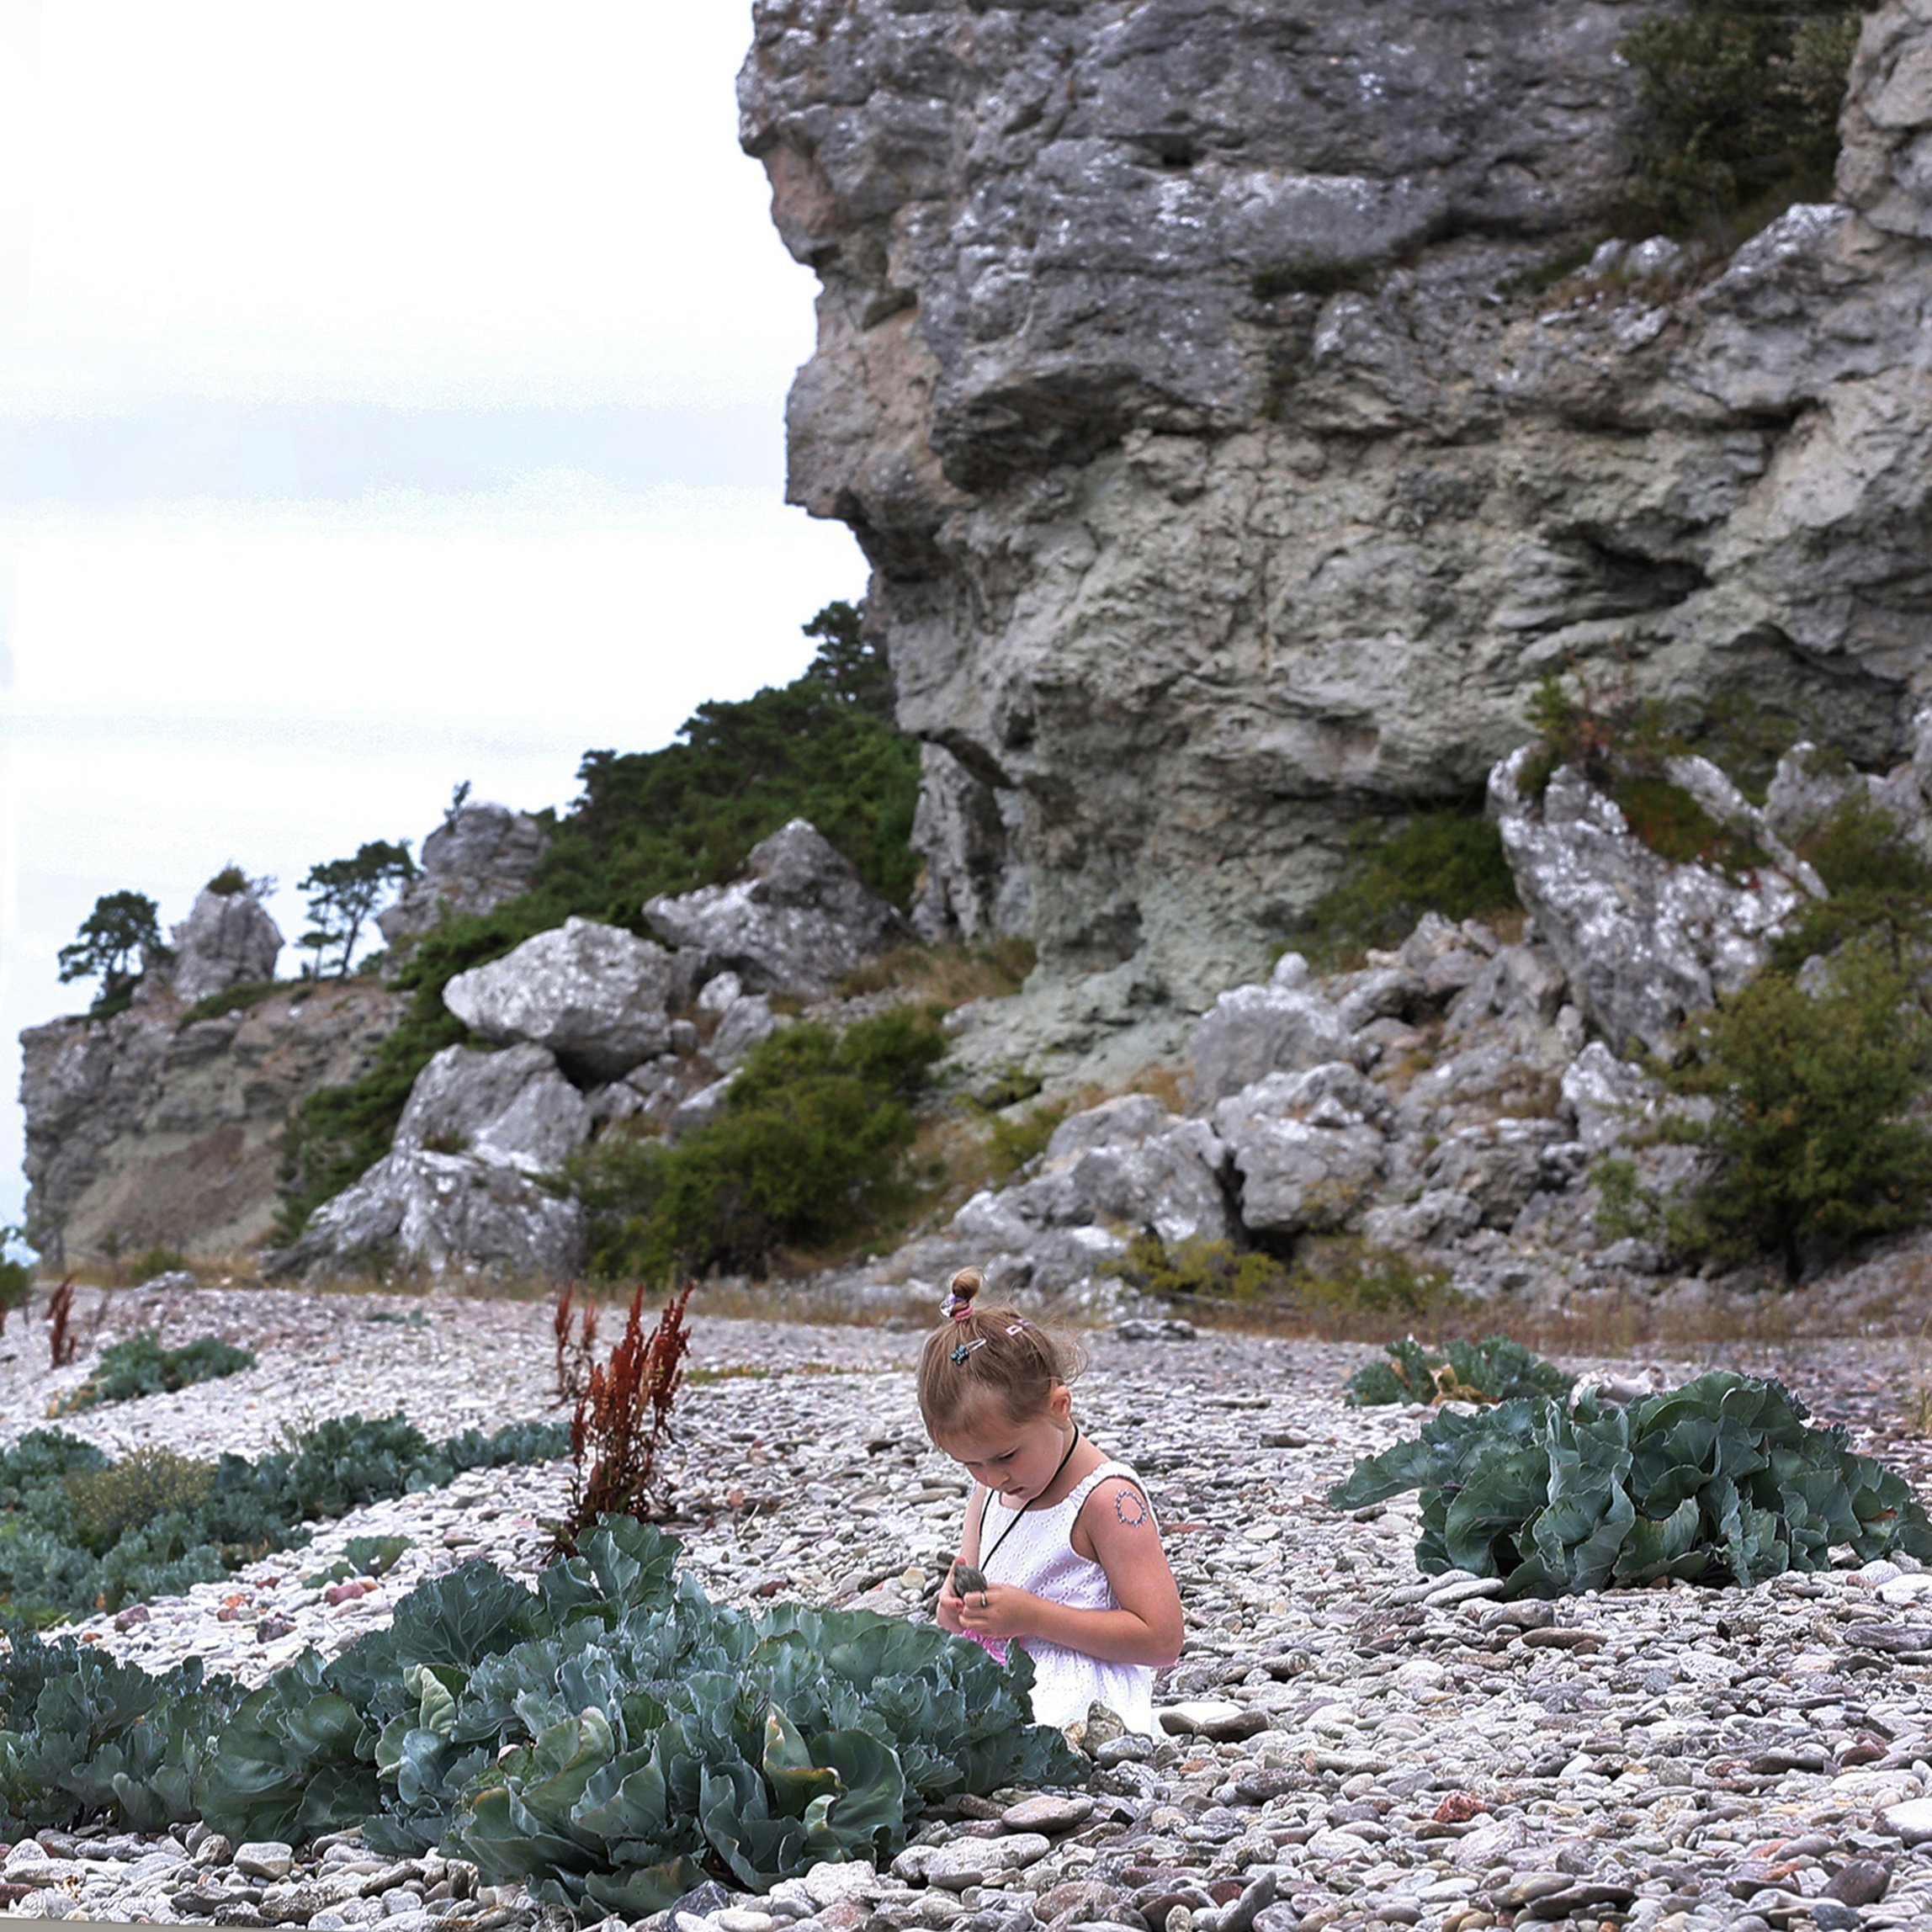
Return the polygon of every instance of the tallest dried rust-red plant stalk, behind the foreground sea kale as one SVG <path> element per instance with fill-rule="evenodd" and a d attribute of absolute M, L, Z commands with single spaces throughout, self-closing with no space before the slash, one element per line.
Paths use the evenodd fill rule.
<path fill-rule="evenodd" d="M 570 1418 L 570 1515 L 558 1526 L 558 1548 L 599 1517 L 649 1520 L 670 1488 L 659 1474 L 657 1453 L 670 1432 L 670 1405 L 684 1381 L 684 1356 L 692 1333 L 684 1304 L 696 1283 L 688 1281 L 665 1302 L 657 1327 L 643 1333 L 643 1285 L 632 1293 L 624 1333 L 611 1360 L 593 1366 Z"/>

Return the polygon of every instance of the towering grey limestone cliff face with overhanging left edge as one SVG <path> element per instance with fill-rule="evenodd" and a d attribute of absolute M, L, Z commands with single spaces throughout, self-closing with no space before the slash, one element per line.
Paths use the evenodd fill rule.
<path fill-rule="evenodd" d="M 744 145 L 823 284 L 790 495 L 873 566 L 929 931 L 1200 1003 L 1364 811 L 1468 794 L 1565 665 L 1932 686 L 1932 6 L 1839 201 L 1607 232 L 1644 0 L 759 0 Z"/>

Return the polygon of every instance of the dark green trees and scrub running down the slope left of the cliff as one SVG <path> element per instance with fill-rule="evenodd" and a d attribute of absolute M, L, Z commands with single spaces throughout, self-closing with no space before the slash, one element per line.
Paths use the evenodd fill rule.
<path fill-rule="evenodd" d="M 562 817 L 537 815 L 551 846 L 531 889 L 415 941 L 396 970 L 410 1005 L 369 1072 L 311 1094 L 290 1124 L 278 1240 L 388 1153 L 415 1076 L 468 1039 L 442 1005 L 456 974 L 572 914 L 645 931 L 647 898 L 736 877 L 752 846 L 794 817 L 811 819 L 873 891 L 910 902 L 918 740 L 893 728 L 885 661 L 850 605 L 827 605 L 806 634 L 819 655 L 790 684 L 699 705 L 659 752 L 585 752 L 582 796 Z"/>

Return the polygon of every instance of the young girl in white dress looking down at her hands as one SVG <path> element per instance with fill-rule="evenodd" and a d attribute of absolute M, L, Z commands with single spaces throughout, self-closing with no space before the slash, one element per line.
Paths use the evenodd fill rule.
<path fill-rule="evenodd" d="M 1153 1669 L 1180 1654 L 1180 1592 L 1140 1478 L 1072 1418 L 1074 1364 L 1014 1308 L 976 1308 L 962 1267 L 920 1358 L 925 1434 L 974 1478 L 960 1565 L 939 1623 L 1005 1660 L 1034 1660 L 1034 1718 L 1066 1725 L 1105 1704 L 1153 1731 Z"/>

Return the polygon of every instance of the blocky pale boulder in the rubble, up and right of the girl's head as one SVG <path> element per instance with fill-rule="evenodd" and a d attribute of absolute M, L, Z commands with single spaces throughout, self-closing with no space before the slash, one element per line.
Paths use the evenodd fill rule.
<path fill-rule="evenodd" d="M 1387 1171 L 1389 1101 L 1347 1061 L 1271 1072 L 1223 1099 L 1213 1126 L 1240 1175 L 1254 1233 L 1347 1225 Z"/>

